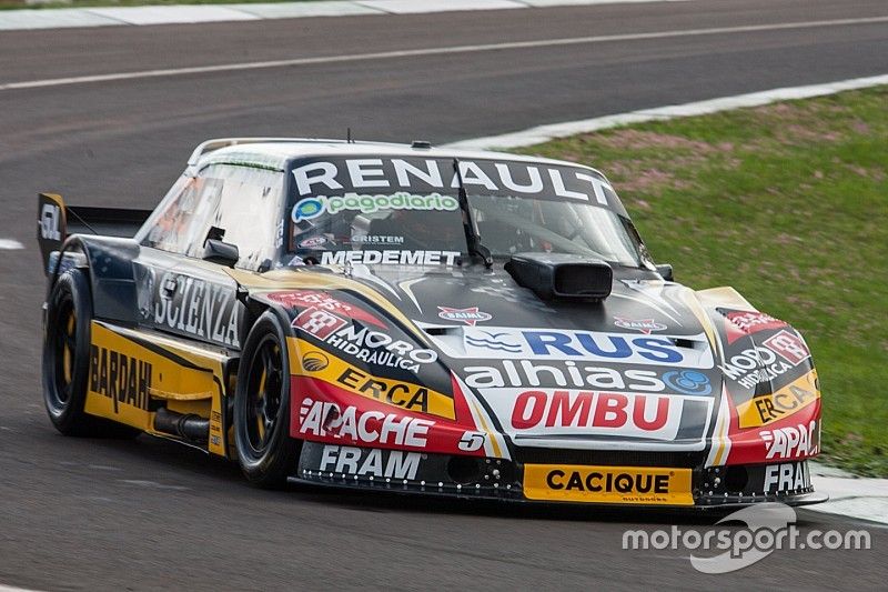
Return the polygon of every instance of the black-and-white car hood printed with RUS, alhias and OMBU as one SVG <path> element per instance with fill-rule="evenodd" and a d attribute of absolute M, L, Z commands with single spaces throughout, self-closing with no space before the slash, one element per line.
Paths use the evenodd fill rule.
<path fill-rule="evenodd" d="M 414 380 L 476 398 L 517 445 L 704 445 L 720 371 L 710 320 L 680 284 L 617 271 L 591 303 L 542 300 L 502 269 L 350 271 L 351 289 L 327 293 L 400 319 L 446 372 L 414 364 Z"/>

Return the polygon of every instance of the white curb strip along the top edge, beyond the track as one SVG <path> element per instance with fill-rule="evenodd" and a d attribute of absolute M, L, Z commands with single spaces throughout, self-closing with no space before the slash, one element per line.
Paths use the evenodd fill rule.
<path fill-rule="evenodd" d="M 0 31 L 689 1 L 699 0 L 321 0 L 255 4 L 21 9 L 0 11 Z"/>

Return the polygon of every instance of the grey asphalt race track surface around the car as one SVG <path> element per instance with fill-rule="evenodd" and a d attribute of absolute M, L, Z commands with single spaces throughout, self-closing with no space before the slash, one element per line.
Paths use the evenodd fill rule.
<path fill-rule="evenodd" d="M 885 589 L 870 551 L 778 551 L 703 575 L 623 551 L 688 514 L 251 489 L 234 465 L 140 438 L 58 435 L 40 400 L 34 195 L 151 207 L 199 141 L 297 134 L 443 143 L 572 119 L 888 72 L 884 0 L 699 0 L 403 17 L 0 33 L 0 84 L 151 69 L 595 36 L 624 40 L 322 61 L 0 90 L 0 583 L 38 589 Z M 829 397 L 829 393 L 825 393 Z M 828 419 L 827 419 L 828 421 Z M 806 511 L 809 529 L 862 528 Z"/>

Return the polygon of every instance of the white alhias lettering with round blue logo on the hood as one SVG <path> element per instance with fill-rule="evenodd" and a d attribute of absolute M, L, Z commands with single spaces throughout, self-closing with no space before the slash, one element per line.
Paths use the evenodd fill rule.
<path fill-rule="evenodd" d="M 664 379 L 669 374 L 674 387 Z M 682 374 L 689 374 L 683 377 Z M 607 368 L 581 365 L 577 362 L 534 360 L 503 360 L 491 365 L 468 365 L 463 369 L 465 383 L 473 389 L 502 387 L 574 387 L 608 391 L 663 392 L 682 394 L 709 394 L 709 379 L 696 371 L 669 371 L 660 375 L 655 370 L 640 368 Z M 709 390 L 707 390 L 707 388 Z"/>

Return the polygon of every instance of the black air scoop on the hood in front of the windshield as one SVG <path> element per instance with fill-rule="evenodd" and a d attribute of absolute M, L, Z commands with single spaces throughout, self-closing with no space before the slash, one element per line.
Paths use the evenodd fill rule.
<path fill-rule="evenodd" d="M 565 253 L 516 253 L 505 270 L 543 300 L 601 302 L 610 295 L 614 281 L 604 261 Z"/>

